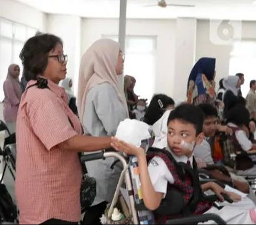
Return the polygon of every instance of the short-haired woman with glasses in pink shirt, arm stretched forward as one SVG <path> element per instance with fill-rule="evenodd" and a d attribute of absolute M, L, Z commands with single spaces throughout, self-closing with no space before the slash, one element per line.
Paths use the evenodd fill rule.
<path fill-rule="evenodd" d="M 17 118 L 15 194 L 20 224 L 78 224 L 81 218 L 81 151 L 110 147 L 110 137 L 83 136 L 68 106 L 67 55 L 59 37 L 30 38 L 20 58 L 29 81 Z"/>

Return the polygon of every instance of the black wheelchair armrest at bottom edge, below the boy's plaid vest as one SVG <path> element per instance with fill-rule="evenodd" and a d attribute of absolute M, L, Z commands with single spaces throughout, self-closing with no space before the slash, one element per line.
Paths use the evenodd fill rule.
<path fill-rule="evenodd" d="M 214 221 L 217 224 L 227 224 L 220 216 L 216 214 L 203 214 L 203 215 L 194 215 L 187 218 L 168 220 L 166 224 L 197 224 L 199 222 Z"/>

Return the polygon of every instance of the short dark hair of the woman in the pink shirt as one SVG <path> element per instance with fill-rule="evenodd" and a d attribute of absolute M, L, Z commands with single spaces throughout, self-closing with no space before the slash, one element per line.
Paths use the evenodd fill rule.
<path fill-rule="evenodd" d="M 48 63 L 48 54 L 62 40 L 51 34 L 42 34 L 29 38 L 23 46 L 20 59 L 23 65 L 23 76 L 27 81 L 36 80 Z"/>

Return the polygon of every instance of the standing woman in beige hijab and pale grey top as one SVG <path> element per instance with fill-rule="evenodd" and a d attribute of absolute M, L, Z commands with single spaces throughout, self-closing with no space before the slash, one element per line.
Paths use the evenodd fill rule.
<path fill-rule="evenodd" d="M 124 55 L 119 44 L 110 39 L 95 41 L 83 55 L 78 82 L 78 113 L 86 135 L 115 136 L 121 121 L 129 117 L 118 75 L 123 73 Z M 97 181 L 97 196 L 86 224 L 99 224 L 106 204 L 113 198 L 122 170 L 110 169 L 114 159 L 86 163 L 90 176 Z"/>

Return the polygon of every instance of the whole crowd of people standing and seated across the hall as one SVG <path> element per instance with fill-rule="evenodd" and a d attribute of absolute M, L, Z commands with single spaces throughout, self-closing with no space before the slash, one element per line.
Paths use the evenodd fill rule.
<path fill-rule="evenodd" d="M 256 150 L 255 80 L 246 98 L 241 93 L 242 73 L 221 79 L 216 91 L 216 60 L 204 57 L 189 74 L 187 101 L 175 104 L 170 96 L 155 94 L 147 105 L 147 99 L 134 93 L 134 77 L 125 76 L 124 87 L 119 86 L 125 59 L 119 44 L 100 39 L 82 56 L 76 99 L 72 80 L 66 78 L 67 55 L 59 37 L 31 37 L 20 59 L 21 81 L 19 65 L 11 64 L 3 85 L 4 120 L 16 134 L 20 224 L 78 224 L 82 181 L 78 153 L 113 148 L 138 157 L 143 201 L 157 222 L 165 223 L 174 215 L 217 213 L 229 224 L 256 223 L 256 196 L 243 177 L 256 177 L 249 156 Z M 127 118 L 153 129 L 154 144 L 147 155 L 113 138 Z M 241 157 L 225 161 L 225 151 L 220 151 L 223 135 L 234 144 L 235 153 L 243 153 Z M 113 159 L 85 163 L 97 183 L 85 224 L 100 224 L 113 199 L 122 171 L 120 163 L 111 168 L 113 163 Z M 199 169 L 230 189 L 218 182 L 201 184 Z M 209 190 L 219 201 L 228 196 L 235 203 L 217 209 L 204 198 L 203 192 Z"/>

